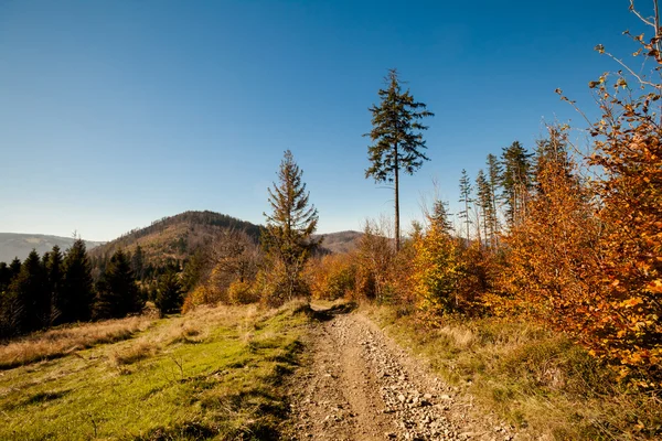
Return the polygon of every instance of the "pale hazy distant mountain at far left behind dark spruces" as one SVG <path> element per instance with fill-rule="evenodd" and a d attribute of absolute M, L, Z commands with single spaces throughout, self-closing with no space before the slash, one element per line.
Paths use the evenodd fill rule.
<path fill-rule="evenodd" d="M 24 260 L 34 248 L 36 252 L 43 255 L 57 245 L 62 251 L 65 251 L 74 243 L 72 237 L 46 236 L 39 234 L 21 233 L 0 233 L 0 261 L 10 262 L 14 257 Z M 103 241 L 85 240 L 87 249 L 94 249 Z"/>

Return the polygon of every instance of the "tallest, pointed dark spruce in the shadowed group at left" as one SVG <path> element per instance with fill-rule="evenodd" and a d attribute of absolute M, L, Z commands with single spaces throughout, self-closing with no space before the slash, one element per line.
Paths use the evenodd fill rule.
<path fill-rule="evenodd" d="M 64 284 L 57 299 L 61 322 L 88 321 L 92 318 L 94 281 L 85 243 L 76 239 L 64 257 Z"/>

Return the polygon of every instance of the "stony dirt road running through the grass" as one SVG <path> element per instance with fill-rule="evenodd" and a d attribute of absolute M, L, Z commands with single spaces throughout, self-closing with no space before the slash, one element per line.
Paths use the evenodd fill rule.
<path fill-rule="evenodd" d="M 512 440 L 366 316 L 328 314 L 290 385 L 291 440 Z"/>

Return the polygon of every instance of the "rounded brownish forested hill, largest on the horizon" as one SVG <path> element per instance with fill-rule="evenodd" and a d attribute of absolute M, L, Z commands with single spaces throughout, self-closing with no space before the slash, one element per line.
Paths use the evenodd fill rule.
<path fill-rule="evenodd" d="M 116 250 L 134 252 L 142 249 L 146 262 L 160 265 L 170 259 L 184 260 L 196 250 L 212 244 L 223 229 L 245 230 L 259 238 L 260 226 L 214 212 L 184 212 L 152 222 L 95 248 L 92 257 L 110 256 Z"/>

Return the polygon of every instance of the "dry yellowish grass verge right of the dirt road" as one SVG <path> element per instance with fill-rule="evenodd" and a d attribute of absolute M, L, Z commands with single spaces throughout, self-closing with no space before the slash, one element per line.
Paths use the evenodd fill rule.
<path fill-rule="evenodd" d="M 563 335 L 527 323 L 446 318 L 429 329 L 393 306 L 364 305 L 387 334 L 451 385 L 528 433 L 557 440 L 662 438 L 660 395 L 629 390 Z"/>

